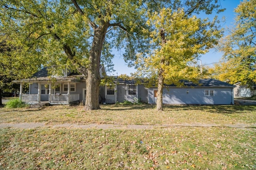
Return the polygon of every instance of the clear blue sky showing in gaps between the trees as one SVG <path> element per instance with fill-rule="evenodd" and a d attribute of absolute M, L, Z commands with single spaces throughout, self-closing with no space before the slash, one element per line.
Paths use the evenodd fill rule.
<path fill-rule="evenodd" d="M 218 15 L 219 19 L 224 17 L 225 22 L 221 23 L 222 28 L 228 28 L 233 26 L 234 18 L 236 16 L 234 9 L 238 6 L 238 4 L 240 4 L 240 0 L 219 0 L 219 3 L 222 6 L 222 8 L 226 8 L 226 10 L 220 14 L 216 14 L 213 12 L 212 16 L 207 16 L 207 17 L 211 18 L 216 15 Z M 116 71 L 113 73 L 110 73 L 110 75 L 120 75 L 120 74 L 130 75 L 130 73 L 134 73 L 136 71 L 134 68 L 130 68 L 127 66 L 127 63 L 125 63 L 122 58 L 122 53 L 118 51 L 113 51 L 113 52 L 115 53 L 113 63 L 114 63 L 114 69 Z M 222 57 L 222 53 L 216 52 L 215 49 L 210 49 L 208 53 L 200 57 L 200 60 L 202 60 L 202 65 L 205 65 L 205 64 L 221 61 L 221 57 Z M 198 63 L 200 63 L 200 60 L 198 61 Z"/>

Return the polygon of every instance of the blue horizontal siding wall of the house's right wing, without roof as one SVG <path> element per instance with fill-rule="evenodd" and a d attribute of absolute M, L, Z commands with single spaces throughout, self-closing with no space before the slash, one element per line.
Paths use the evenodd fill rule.
<path fill-rule="evenodd" d="M 204 90 L 214 90 L 214 96 L 204 96 Z M 150 88 L 150 104 L 155 103 L 153 93 L 153 88 Z M 230 105 L 232 101 L 232 88 L 195 87 L 163 89 L 163 104 Z"/>

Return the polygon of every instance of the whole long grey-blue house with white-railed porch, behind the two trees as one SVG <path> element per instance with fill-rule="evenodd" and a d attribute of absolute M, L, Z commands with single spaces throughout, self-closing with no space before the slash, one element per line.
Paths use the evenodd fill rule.
<path fill-rule="evenodd" d="M 100 67 L 100 74 L 102 77 L 105 75 L 104 67 Z M 20 83 L 20 99 L 30 104 L 47 102 L 52 105 L 66 105 L 78 101 L 85 103 L 86 83 L 82 75 L 64 71 L 62 76 L 48 76 L 48 71 L 44 68 L 30 79 L 15 81 Z M 24 83 L 29 83 L 29 91 L 26 94 L 22 94 Z M 230 105 L 234 104 L 234 87 L 216 79 L 200 79 L 197 84 L 184 81 L 183 87 L 166 85 L 163 91 L 163 104 Z M 116 79 L 111 85 L 100 86 L 99 101 L 140 101 L 155 104 L 156 94 L 157 87 L 146 88 L 134 80 Z"/>

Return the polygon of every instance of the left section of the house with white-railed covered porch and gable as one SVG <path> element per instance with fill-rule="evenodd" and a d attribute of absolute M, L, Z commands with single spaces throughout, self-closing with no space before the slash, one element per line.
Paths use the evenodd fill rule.
<path fill-rule="evenodd" d="M 100 75 L 105 75 L 104 66 L 100 66 Z M 28 104 L 50 103 L 70 104 L 86 99 L 86 84 L 82 75 L 68 71 L 63 71 L 61 76 L 49 77 L 47 68 L 44 67 L 33 75 L 30 79 L 14 81 L 20 83 L 20 99 Z M 29 91 L 23 94 L 24 83 L 29 83 Z"/>

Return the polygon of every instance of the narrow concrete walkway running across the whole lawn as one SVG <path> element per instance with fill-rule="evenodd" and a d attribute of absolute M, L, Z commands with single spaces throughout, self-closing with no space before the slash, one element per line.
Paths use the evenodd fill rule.
<path fill-rule="evenodd" d="M 256 124 L 170 124 L 170 125 L 118 125 L 118 124 L 88 124 L 88 125 L 77 125 L 77 124 L 58 124 L 58 125 L 47 125 L 45 123 L 1 123 L 0 128 L 36 128 L 36 127 L 51 127 L 51 128 L 81 128 L 81 129 L 159 129 L 159 128 L 171 128 L 171 127 L 230 127 L 230 128 L 256 128 Z M 256 130 L 256 129 L 255 129 Z"/>

